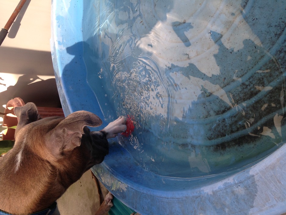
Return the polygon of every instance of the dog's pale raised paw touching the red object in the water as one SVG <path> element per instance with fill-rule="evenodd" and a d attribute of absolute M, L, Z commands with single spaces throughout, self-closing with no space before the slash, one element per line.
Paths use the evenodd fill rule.
<path fill-rule="evenodd" d="M 126 131 L 126 117 L 118 117 L 113 122 L 110 122 L 102 131 L 106 133 L 107 139 L 116 137 L 118 133 Z"/>

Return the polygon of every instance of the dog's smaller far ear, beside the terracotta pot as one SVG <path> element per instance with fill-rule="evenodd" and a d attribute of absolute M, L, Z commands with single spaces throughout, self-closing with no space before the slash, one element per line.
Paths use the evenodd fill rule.
<path fill-rule="evenodd" d="M 31 102 L 22 107 L 15 107 L 14 113 L 18 119 L 17 129 L 40 119 L 36 105 Z"/>

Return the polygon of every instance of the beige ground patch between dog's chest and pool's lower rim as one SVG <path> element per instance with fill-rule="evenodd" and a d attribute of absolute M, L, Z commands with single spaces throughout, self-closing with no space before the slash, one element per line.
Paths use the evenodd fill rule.
<path fill-rule="evenodd" d="M 100 183 L 103 198 L 108 190 Z M 57 200 L 54 215 L 94 215 L 100 206 L 99 192 L 96 182 L 88 170 Z M 107 215 L 108 213 L 106 213 Z"/>

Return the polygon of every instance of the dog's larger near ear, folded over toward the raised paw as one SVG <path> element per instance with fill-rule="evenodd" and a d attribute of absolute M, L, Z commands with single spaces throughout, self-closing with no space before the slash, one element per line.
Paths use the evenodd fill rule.
<path fill-rule="evenodd" d="M 80 146 L 85 126 L 97 127 L 101 124 L 102 120 L 91 112 L 74 112 L 68 115 L 52 130 L 51 141 L 60 142 L 61 147 L 59 150 L 63 150 L 63 152 L 72 151 L 77 146 Z M 52 151 L 54 155 L 57 154 L 55 148 Z"/>

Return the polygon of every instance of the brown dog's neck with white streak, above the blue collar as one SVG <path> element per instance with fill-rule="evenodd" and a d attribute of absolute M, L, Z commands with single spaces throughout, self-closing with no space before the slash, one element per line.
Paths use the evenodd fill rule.
<path fill-rule="evenodd" d="M 0 209 L 12 214 L 23 208 L 27 214 L 45 210 L 65 191 L 56 179 L 57 169 L 23 147 L 27 146 L 15 144 L 0 158 L 0 199 L 4 206 Z"/>

